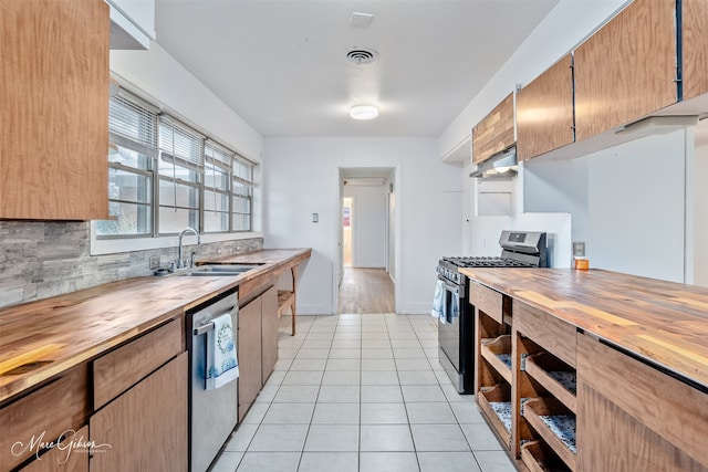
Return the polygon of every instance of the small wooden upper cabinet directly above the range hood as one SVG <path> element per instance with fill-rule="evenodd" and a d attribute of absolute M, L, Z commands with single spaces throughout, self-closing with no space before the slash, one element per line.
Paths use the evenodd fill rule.
<path fill-rule="evenodd" d="M 514 144 L 513 93 L 472 128 L 472 164 L 481 162 Z"/>

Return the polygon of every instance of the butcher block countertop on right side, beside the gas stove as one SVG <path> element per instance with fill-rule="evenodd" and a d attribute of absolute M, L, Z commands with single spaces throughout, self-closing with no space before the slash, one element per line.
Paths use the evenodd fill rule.
<path fill-rule="evenodd" d="M 460 272 L 708 387 L 708 289 L 603 270 Z"/>

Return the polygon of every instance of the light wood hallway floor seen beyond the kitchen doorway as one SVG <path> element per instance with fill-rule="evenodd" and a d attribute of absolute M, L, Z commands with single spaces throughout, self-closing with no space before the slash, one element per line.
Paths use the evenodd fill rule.
<path fill-rule="evenodd" d="M 344 268 L 337 313 L 394 311 L 394 283 L 384 269 Z"/>

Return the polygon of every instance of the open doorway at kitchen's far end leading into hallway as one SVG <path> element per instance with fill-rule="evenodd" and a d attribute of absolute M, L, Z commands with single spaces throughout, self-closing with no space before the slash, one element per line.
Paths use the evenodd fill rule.
<path fill-rule="evenodd" d="M 395 313 L 395 169 L 340 169 L 337 313 Z"/>

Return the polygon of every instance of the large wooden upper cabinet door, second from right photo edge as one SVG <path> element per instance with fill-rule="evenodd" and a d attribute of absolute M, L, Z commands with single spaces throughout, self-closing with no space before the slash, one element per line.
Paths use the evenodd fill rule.
<path fill-rule="evenodd" d="M 575 50 L 576 140 L 676 103 L 675 21 L 674 0 L 634 0 Z"/>

